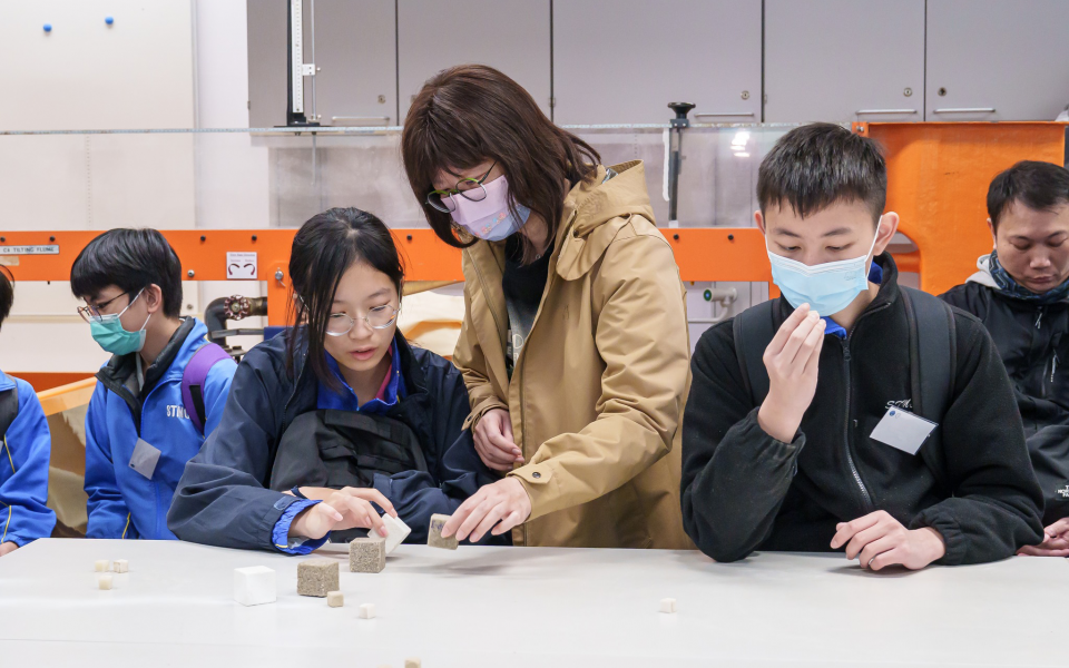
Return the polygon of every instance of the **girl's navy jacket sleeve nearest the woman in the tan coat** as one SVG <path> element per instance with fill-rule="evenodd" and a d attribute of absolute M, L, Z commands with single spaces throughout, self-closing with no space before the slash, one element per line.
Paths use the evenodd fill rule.
<path fill-rule="evenodd" d="M 375 474 L 374 487 L 390 499 L 398 517 L 412 529 L 405 539 L 410 543 L 425 543 L 432 514 L 453 514 L 457 508 L 480 487 L 499 480 L 479 459 L 470 431 L 462 431 L 471 411 L 468 390 L 460 372 L 449 367 L 438 383 L 428 374 L 428 392 L 433 418 L 431 431 L 438 440 L 425 453 L 434 462 L 430 472 L 403 471 L 393 475 Z M 481 543 L 501 544 L 508 537 L 491 537 Z"/>

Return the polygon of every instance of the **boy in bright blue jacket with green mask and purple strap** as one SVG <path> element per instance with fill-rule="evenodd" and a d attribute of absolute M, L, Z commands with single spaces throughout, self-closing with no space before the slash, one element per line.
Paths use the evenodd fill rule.
<path fill-rule="evenodd" d="M 236 364 L 179 317 L 182 263 L 155 229 L 111 229 L 70 269 L 78 313 L 111 353 L 86 415 L 88 538 L 174 539 L 183 469 L 218 425 Z M 185 396 L 184 396 L 185 395 Z"/>

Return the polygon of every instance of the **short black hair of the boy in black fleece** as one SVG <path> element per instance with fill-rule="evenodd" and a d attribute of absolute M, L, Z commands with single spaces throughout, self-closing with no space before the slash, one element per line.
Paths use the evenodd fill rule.
<path fill-rule="evenodd" d="M 757 170 L 757 202 L 805 217 L 835 203 L 862 202 L 879 220 L 887 204 L 887 166 L 875 141 L 842 126 L 815 122 L 776 141 Z"/>

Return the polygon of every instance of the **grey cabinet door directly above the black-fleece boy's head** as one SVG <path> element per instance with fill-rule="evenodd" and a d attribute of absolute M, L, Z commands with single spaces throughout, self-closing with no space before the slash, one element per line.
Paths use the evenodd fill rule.
<path fill-rule="evenodd" d="M 765 120 L 924 120 L 924 0 L 765 0 Z"/>

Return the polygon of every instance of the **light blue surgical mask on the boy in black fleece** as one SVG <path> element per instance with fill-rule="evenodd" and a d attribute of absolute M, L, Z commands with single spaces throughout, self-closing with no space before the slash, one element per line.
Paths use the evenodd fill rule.
<path fill-rule="evenodd" d="M 850 306 L 850 303 L 862 291 L 869 288 L 869 255 L 876 246 L 879 235 L 880 228 L 877 226 L 876 236 L 872 238 L 869 253 L 861 257 L 826 262 L 813 266 L 768 250 L 768 239 L 766 238 L 765 249 L 768 252 L 768 261 L 772 263 L 772 281 L 795 308 L 802 304 L 808 304 L 813 311 L 822 316 L 834 315 Z"/>

